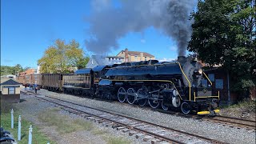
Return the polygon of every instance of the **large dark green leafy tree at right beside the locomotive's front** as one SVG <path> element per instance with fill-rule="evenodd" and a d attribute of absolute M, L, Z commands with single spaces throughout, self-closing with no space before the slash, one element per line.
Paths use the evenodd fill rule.
<path fill-rule="evenodd" d="M 232 90 L 255 86 L 255 0 L 200 0 L 188 50 L 230 73 Z"/>

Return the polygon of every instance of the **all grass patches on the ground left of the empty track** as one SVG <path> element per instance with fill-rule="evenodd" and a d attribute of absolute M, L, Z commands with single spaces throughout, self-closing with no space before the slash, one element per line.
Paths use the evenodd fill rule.
<path fill-rule="evenodd" d="M 10 129 L 10 110 L 14 109 L 14 129 Z M 56 126 L 56 130 L 59 134 L 67 134 L 79 130 L 88 130 L 92 134 L 101 136 L 108 144 L 130 144 L 131 142 L 122 137 L 116 137 L 109 134 L 107 130 L 99 130 L 97 127 L 93 126 L 92 122 L 86 122 L 83 119 L 71 119 L 69 116 L 58 114 L 59 108 L 48 109 L 42 111 L 38 114 L 38 120 L 41 122 L 46 122 L 48 126 Z M 11 134 L 14 135 L 14 139 L 18 140 L 18 115 L 20 112 L 10 103 L 1 102 L 1 126 L 5 130 L 9 130 Z M 40 132 L 40 127 L 34 126 L 33 123 L 26 121 L 22 118 L 22 140 L 19 144 L 25 144 L 28 142 L 29 127 L 33 126 L 33 138 L 32 143 L 41 144 L 50 142 L 56 143 L 47 138 L 46 134 Z"/>

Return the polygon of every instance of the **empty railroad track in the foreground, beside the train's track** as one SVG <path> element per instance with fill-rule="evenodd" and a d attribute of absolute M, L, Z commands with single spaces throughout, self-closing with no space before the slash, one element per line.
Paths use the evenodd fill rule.
<path fill-rule="evenodd" d="M 143 138 L 144 141 L 170 142 L 170 143 L 225 143 L 212 138 L 205 138 L 196 134 L 190 134 L 181 130 L 174 130 L 166 126 L 160 126 L 151 122 L 145 122 L 137 118 L 130 118 L 121 114 L 114 114 L 106 110 L 99 110 L 90 106 L 83 106 L 74 102 L 64 101 L 49 96 L 36 96 L 47 102 L 52 102 L 70 113 L 81 115 L 83 118 L 102 123 L 105 126 L 112 126 L 116 130 L 129 132 L 136 138 Z"/>

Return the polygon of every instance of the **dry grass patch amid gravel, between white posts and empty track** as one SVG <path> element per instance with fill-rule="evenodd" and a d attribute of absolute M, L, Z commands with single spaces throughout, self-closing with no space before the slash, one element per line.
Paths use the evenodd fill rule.
<path fill-rule="evenodd" d="M 78 130 L 92 130 L 91 122 L 82 119 L 71 119 L 69 116 L 58 114 L 59 109 L 48 109 L 38 114 L 41 122 L 46 122 L 48 126 L 56 126 L 60 134 L 71 133 Z"/>

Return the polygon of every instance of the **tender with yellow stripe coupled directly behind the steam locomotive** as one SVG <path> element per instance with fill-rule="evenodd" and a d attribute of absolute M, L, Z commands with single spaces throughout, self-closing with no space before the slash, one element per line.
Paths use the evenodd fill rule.
<path fill-rule="evenodd" d="M 63 91 L 66 94 L 93 95 L 94 74 L 91 69 L 76 70 L 63 75 Z"/>

